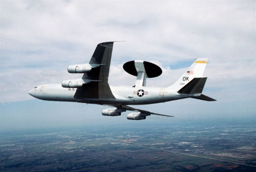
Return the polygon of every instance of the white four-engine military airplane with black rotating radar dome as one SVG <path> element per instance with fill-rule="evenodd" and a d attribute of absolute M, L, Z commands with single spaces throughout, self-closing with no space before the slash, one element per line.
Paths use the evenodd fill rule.
<path fill-rule="evenodd" d="M 198 58 L 185 73 L 171 86 L 148 87 L 147 78 L 162 74 L 162 69 L 148 61 L 133 60 L 123 65 L 123 69 L 136 76 L 134 86 L 109 86 L 108 74 L 114 42 L 102 42 L 96 46 L 89 63 L 67 67 L 68 73 L 83 73 L 81 79 L 64 80 L 61 84 L 36 86 L 28 93 L 42 100 L 67 101 L 107 105 L 114 108 L 104 109 L 105 116 L 119 116 L 121 112 L 135 111 L 127 119 L 141 120 L 149 115 L 175 117 L 161 113 L 136 109 L 128 105 L 146 105 L 177 99 L 194 98 L 216 101 L 202 94 L 207 77 L 203 72 L 207 58 Z"/>

